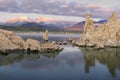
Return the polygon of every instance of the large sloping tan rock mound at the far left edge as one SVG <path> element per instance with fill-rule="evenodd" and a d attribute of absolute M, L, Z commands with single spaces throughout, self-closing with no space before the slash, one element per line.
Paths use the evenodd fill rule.
<path fill-rule="evenodd" d="M 22 49 L 24 40 L 11 31 L 0 29 L 0 51 Z"/>

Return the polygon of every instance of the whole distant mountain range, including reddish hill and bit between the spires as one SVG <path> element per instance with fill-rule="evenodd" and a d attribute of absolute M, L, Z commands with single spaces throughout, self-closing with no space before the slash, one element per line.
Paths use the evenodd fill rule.
<path fill-rule="evenodd" d="M 106 20 L 100 20 L 94 23 L 101 24 L 106 22 Z M 22 31 L 39 31 L 39 30 L 51 30 L 51 31 L 82 31 L 85 21 L 75 22 L 75 21 L 63 21 L 55 20 L 47 17 L 39 17 L 35 20 L 29 17 L 22 16 L 18 18 L 11 18 L 4 23 L 0 23 L 0 28 L 9 30 L 22 30 Z"/>

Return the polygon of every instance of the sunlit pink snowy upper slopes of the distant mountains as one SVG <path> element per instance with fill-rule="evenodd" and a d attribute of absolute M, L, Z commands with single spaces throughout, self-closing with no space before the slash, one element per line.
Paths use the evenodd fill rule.
<path fill-rule="evenodd" d="M 18 18 L 11 18 L 5 22 L 5 26 L 21 26 L 24 24 L 30 25 L 31 23 L 34 23 L 35 25 L 55 25 L 59 26 L 61 28 L 69 27 L 76 22 L 74 21 L 63 21 L 63 20 L 56 20 L 53 18 L 47 18 L 47 17 L 39 17 L 35 20 L 30 19 L 27 16 L 22 16 Z M 32 24 L 33 25 L 33 24 Z"/>

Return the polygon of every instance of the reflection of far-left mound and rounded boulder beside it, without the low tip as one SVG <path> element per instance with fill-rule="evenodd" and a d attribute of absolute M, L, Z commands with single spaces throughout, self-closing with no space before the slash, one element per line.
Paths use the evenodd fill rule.
<path fill-rule="evenodd" d="M 23 59 L 27 60 L 34 60 L 38 59 L 39 55 L 36 54 L 8 54 L 6 55 L 0 55 L 0 66 L 2 65 L 8 65 L 13 64 L 16 62 L 21 62 Z"/>

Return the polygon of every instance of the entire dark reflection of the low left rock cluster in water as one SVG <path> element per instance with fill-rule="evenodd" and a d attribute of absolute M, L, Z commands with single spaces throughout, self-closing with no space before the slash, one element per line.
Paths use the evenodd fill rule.
<path fill-rule="evenodd" d="M 16 62 L 21 62 L 22 60 L 36 60 L 40 59 L 40 55 L 43 55 L 48 58 L 55 58 L 56 55 L 58 55 L 59 52 L 54 52 L 54 53 L 24 53 L 20 51 L 15 51 L 10 54 L 0 54 L 0 66 L 1 65 L 8 65 L 8 64 L 13 64 Z"/>

